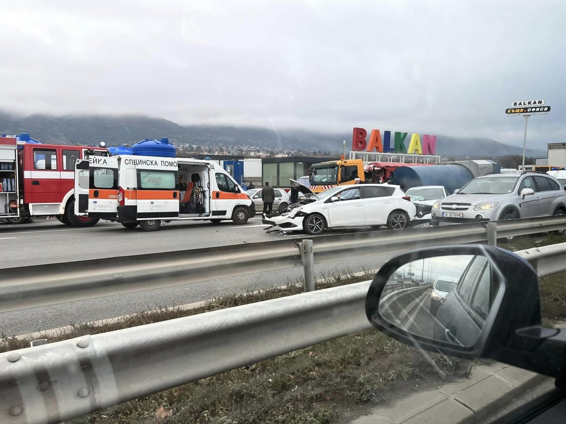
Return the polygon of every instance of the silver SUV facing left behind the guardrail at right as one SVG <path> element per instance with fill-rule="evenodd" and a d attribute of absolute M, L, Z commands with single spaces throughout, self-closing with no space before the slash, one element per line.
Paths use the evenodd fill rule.
<path fill-rule="evenodd" d="M 566 213 L 566 192 L 551 175 L 536 171 L 474 178 L 432 205 L 432 225 Z"/>

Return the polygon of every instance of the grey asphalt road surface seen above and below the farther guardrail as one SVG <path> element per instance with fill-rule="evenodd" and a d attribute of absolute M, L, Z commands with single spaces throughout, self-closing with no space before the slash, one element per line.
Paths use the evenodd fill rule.
<path fill-rule="evenodd" d="M 109 258 L 141 253 L 196 249 L 226 244 L 253 243 L 301 237 L 302 233 L 265 233 L 259 218 L 252 218 L 244 226 L 232 222 L 175 222 L 162 226 L 156 232 L 139 228 L 127 230 L 121 224 L 101 221 L 91 228 L 67 227 L 58 220 L 35 220 L 33 223 L 11 226 L 0 223 L 0 272 L 12 267 Z M 333 230 L 332 233 L 376 231 L 370 228 Z M 381 231 L 381 230 L 377 230 Z M 389 255 L 347 258 L 343 261 L 315 265 L 316 278 L 379 268 Z M 105 296 L 90 300 L 30 308 L 0 313 L 0 333 L 27 334 L 69 325 L 113 318 L 160 306 L 182 305 L 208 300 L 226 293 L 284 285 L 302 278 L 302 268 L 286 269 L 208 280 L 174 287 Z"/>

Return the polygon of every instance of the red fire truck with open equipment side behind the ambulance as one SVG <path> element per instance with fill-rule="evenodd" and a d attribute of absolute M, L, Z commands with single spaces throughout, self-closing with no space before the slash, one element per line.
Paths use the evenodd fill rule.
<path fill-rule="evenodd" d="M 19 224 L 47 215 L 74 227 L 95 225 L 98 219 L 74 213 L 75 161 L 91 155 L 109 153 L 94 146 L 41 144 L 25 133 L 0 136 L 0 219 Z"/>

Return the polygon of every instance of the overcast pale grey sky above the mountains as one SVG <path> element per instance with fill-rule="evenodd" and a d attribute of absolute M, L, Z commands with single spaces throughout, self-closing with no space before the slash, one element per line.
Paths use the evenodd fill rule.
<path fill-rule="evenodd" d="M 495 6 L 496 5 L 496 6 Z M 563 0 L 12 1 L 0 109 L 564 141 Z"/>

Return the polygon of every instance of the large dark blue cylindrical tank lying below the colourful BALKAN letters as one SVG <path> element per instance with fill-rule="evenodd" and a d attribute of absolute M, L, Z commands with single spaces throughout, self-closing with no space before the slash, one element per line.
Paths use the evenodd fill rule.
<path fill-rule="evenodd" d="M 393 171 L 392 184 L 400 185 L 403 191 L 419 185 L 444 185 L 452 194 L 473 179 L 464 165 L 401 166 Z"/>

